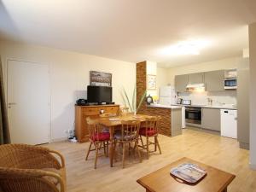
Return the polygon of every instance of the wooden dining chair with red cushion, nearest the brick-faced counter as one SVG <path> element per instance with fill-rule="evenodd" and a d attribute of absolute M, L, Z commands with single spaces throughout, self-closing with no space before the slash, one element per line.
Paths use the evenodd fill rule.
<path fill-rule="evenodd" d="M 142 148 L 147 150 L 147 159 L 149 155 L 149 145 L 154 144 L 154 151 L 156 151 L 156 148 L 159 148 L 160 154 L 160 144 L 158 141 L 158 123 L 159 123 L 160 117 L 148 117 L 146 118 L 146 121 L 143 123 L 143 127 L 140 128 L 139 131 L 139 137 L 142 142 Z M 146 145 L 143 144 L 143 137 L 146 137 Z M 149 141 L 149 138 L 154 137 L 154 143 Z"/>

